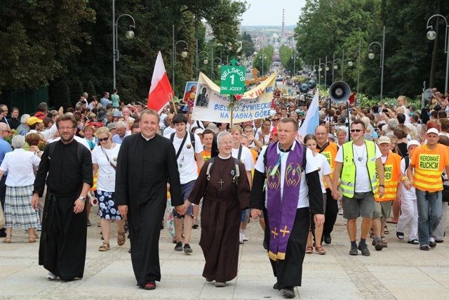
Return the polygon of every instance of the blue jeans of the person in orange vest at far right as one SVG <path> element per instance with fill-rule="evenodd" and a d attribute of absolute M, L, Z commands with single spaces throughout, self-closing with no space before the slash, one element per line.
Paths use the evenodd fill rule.
<path fill-rule="evenodd" d="M 416 189 L 415 193 L 418 208 L 418 235 L 420 237 L 420 245 L 427 246 L 429 244 L 429 237 L 434 233 L 438 223 L 440 223 L 442 215 L 441 191 L 429 193 Z"/>

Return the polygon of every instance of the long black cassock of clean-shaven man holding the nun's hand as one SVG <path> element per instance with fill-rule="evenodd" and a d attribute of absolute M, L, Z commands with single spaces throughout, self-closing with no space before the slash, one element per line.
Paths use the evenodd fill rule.
<path fill-rule="evenodd" d="M 128 205 L 131 261 L 140 286 L 161 280 L 159 236 L 168 182 L 172 205 L 184 204 L 170 140 L 157 134 L 148 141 L 141 134 L 126 137 L 117 158 L 115 200 Z"/>

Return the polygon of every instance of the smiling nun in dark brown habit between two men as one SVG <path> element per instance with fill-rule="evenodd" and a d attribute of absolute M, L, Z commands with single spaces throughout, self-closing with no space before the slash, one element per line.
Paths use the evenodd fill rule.
<path fill-rule="evenodd" d="M 249 205 L 250 184 L 245 165 L 232 154 L 232 135 L 225 131 L 217 138 L 219 154 L 213 158 L 210 178 L 207 170 L 212 159 L 201 168 L 194 188 L 185 202 L 199 204 L 201 209 L 201 239 L 206 264 L 203 277 L 206 281 L 215 280 L 215 287 L 225 287 L 226 282 L 237 276 L 239 265 L 239 229 L 242 209 Z M 240 176 L 236 176 L 236 168 Z"/>

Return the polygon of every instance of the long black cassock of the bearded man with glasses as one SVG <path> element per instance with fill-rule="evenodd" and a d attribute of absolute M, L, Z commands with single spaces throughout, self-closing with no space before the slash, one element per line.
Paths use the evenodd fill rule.
<path fill-rule="evenodd" d="M 48 157 L 48 147 L 43 151 L 39 171 L 34 181 L 34 193 L 41 197 L 45 183 L 47 195 L 43 208 L 42 233 L 39 243 L 39 265 L 62 280 L 83 278 L 86 262 L 87 205 L 79 214 L 73 211 L 83 183 L 93 185 L 92 157 L 79 143 L 55 142 Z M 48 172 L 48 176 L 47 176 Z"/>

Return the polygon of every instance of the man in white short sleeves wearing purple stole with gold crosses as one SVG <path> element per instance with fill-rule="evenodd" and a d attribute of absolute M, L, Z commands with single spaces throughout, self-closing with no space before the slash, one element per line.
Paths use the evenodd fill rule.
<path fill-rule="evenodd" d="M 281 119 L 279 141 L 260 152 L 250 194 L 251 216 L 264 213 L 269 261 L 285 298 L 301 286 L 310 218 L 324 223 L 323 195 L 318 167 L 311 150 L 299 143 L 295 119 Z M 265 181 L 266 179 L 266 181 Z M 263 191 L 265 190 L 265 193 Z"/>

